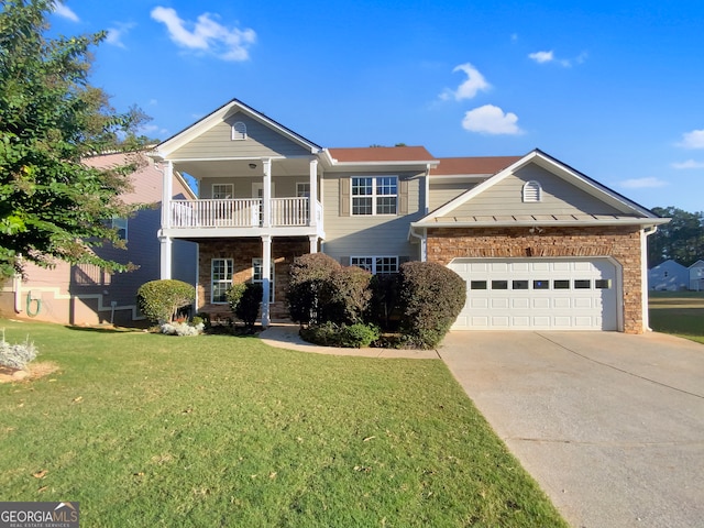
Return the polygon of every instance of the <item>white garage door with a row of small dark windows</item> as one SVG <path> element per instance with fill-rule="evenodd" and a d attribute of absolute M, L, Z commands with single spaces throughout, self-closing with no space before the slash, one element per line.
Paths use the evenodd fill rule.
<path fill-rule="evenodd" d="M 466 305 L 454 330 L 618 330 L 608 258 L 455 258 Z"/>

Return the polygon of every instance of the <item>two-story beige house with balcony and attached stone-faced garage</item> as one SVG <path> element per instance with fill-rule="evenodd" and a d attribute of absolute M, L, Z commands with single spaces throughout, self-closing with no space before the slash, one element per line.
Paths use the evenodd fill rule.
<path fill-rule="evenodd" d="M 421 146 L 323 148 L 233 99 L 156 146 L 164 167 L 162 277 L 198 244 L 197 310 L 228 314 L 232 283 L 286 316 L 294 257 L 395 273 L 433 261 L 468 285 L 455 329 L 648 328 L 646 238 L 668 220 L 532 151 L 437 158 Z M 173 200 L 172 175 L 199 199 Z"/>

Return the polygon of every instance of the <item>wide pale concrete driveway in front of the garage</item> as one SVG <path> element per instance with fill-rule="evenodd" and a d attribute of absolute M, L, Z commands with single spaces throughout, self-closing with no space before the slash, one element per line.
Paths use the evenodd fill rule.
<path fill-rule="evenodd" d="M 704 345 L 451 332 L 439 353 L 573 527 L 704 526 Z"/>

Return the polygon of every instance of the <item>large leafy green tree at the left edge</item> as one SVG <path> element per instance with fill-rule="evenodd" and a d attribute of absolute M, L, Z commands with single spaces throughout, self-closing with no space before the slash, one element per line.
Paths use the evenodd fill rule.
<path fill-rule="evenodd" d="M 0 279 L 31 262 L 91 263 L 109 271 L 91 248 L 120 246 L 110 219 L 129 208 L 120 194 L 134 161 L 105 170 L 81 163 L 106 150 L 135 150 L 138 108 L 116 113 L 90 86 L 90 48 L 105 32 L 51 38 L 54 0 L 6 0 L 0 7 Z M 136 156 L 134 156 L 136 160 Z"/>

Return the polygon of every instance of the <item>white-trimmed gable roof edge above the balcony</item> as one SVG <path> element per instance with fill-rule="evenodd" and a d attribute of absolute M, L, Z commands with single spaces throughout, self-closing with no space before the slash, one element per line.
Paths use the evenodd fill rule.
<path fill-rule="evenodd" d="M 243 103 L 239 99 L 232 99 L 231 101 L 224 103 L 222 107 L 210 112 L 208 116 L 200 119 L 199 121 L 196 121 L 195 123 L 185 128 L 180 132 L 172 135 L 169 139 L 162 141 L 154 148 L 154 153 L 157 156 L 161 156 L 162 158 L 167 157 L 170 153 L 177 151 L 178 148 L 184 146 L 186 143 L 188 143 L 193 139 L 199 136 L 200 134 L 208 131 L 216 124 L 222 122 L 228 114 L 235 111 L 240 111 L 249 116 L 250 118 L 256 121 L 260 121 L 264 125 L 277 131 L 283 136 L 309 150 L 311 154 L 317 154 L 322 150 L 320 145 L 317 145 L 312 141 L 307 140 L 302 135 L 294 132 L 287 127 L 284 127 L 279 122 L 274 121 L 273 119 L 268 118 L 264 113 L 258 112 L 257 110 L 254 110 L 252 107 Z"/>

